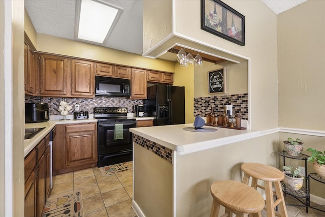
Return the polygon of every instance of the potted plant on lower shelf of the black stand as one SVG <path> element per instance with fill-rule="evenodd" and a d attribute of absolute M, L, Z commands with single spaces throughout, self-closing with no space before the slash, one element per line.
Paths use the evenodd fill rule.
<path fill-rule="evenodd" d="M 291 166 L 283 166 L 283 174 L 284 174 L 284 184 L 289 189 L 294 191 L 298 191 L 303 187 L 304 176 L 299 174 L 299 169 L 295 170 Z"/>

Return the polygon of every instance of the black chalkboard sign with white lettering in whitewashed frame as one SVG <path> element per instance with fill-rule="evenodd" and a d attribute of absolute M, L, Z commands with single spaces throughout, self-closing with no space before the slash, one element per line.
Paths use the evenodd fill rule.
<path fill-rule="evenodd" d="M 225 68 L 208 72 L 209 94 L 226 92 L 225 90 Z"/>

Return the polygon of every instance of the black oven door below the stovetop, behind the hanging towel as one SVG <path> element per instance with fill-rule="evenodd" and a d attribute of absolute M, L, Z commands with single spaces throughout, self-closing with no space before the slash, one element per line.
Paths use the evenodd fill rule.
<path fill-rule="evenodd" d="M 115 124 L 123 124 L 123 138 L 115 139 Z M 135 120 L 99 121 L 98 122 L 98 154 L 113 154 L 132 150 L 132 133 L 129 128 L 136 127 Z"/>

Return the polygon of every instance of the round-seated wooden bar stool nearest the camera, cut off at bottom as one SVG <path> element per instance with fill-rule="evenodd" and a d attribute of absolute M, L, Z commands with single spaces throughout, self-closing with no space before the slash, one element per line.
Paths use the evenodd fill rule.
<path fill-rule="evenodd" d="M 261 210 L 265 202 L 261 194 L 248 185 L 233 181 L 219 180 L 211 184 L 211 195 L 213 197 L 210 217 L 218 217 L 220 205 L 225 207 L 225 213 L 221 217 L 253 216 L 261 217 Z"/>

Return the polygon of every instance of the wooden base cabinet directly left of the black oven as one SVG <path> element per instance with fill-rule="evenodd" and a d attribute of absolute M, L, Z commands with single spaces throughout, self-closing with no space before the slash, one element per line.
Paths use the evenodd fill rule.
<path fill-rule="evenodd" d="M 53 174 L 91 168 L 97 164 L 97 123 L 56 126 Z"/>

